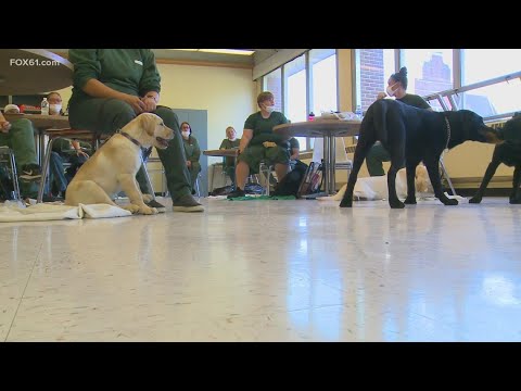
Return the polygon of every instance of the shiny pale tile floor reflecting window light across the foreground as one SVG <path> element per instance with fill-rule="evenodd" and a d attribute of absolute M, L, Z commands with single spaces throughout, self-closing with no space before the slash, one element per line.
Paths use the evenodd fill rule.
<path fill-rule="evenodd" d="M 521 206 L 0 224 L 2 341 L 521 341 Z"/>

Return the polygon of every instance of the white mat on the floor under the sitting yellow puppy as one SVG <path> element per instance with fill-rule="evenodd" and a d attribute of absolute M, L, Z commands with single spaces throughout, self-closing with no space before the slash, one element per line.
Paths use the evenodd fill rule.
<path fill-rule="evenodd" d="M 0 205 L 0 223 L 107 218 L 131 215 L 129 211 L 109 204 L 67 206 L 39 203 L 27 207 L 20 207 L 13 204 Z"/>

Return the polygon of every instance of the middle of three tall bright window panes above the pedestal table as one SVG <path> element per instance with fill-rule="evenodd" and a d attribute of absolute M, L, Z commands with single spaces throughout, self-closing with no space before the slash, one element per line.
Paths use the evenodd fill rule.
<path fill-rule="evenodd" d="M 284 85 L 285 116 L 291 122 L 307 121 L 307 77 L 304 54 L 284 65 Z M 307 149 L 305 137 L 296 137 L 296 139 L 301 144 L 301 150 Z"/>

